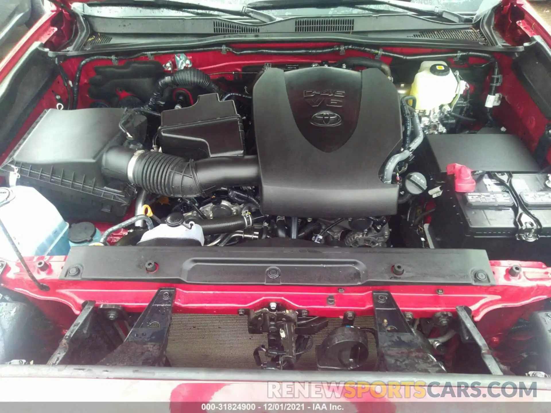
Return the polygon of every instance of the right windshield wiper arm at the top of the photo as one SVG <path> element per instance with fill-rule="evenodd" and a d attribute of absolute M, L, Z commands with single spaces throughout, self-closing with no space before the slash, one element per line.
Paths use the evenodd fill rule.
<path fill-rule="evenodd" d="M 276 9 L 300 9 L 305 7 L 328 8 L 328 7 L 354 7 L 386 4 L 409 12 L 425 13 L 433 17 L 441 17 L 454 23 L 467 23 L 471 21 L 459 13 L 450 12 L 441 7 L 430 6 L 430 4 L 410 3 L 401 0 L 260 0 L 247 4 L 257 10 Z"/>

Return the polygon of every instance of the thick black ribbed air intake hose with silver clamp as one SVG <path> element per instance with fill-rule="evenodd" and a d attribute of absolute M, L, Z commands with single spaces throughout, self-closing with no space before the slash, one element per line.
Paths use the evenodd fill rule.
<path fill-rule="evenodd" d="M 115 146 L 106 151 L 101 171 L 166 197 L 207 196 L 220 187 L 255 186 L 260 180 L 256 156 L 212 157 L 186 161 L 160 152 Z"/>

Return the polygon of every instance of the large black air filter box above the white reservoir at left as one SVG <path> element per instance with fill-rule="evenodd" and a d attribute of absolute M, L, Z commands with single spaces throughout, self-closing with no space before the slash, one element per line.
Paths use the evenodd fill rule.
<path fill-rule="evenodd" d="M 46 110 L 8 156 L 2 172 L 17 170 L 16 183 L 38 189 L 66 220 L 119 222 L 136 189 L 106 180 L 101 157 L 126 140 L 118 129 L 123 112 Z M 12 174 L 10 183 L 17 175 Z"/>

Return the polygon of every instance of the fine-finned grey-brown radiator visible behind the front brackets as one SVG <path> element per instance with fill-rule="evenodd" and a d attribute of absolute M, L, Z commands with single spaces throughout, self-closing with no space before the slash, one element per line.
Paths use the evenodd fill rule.
<path fill-rule="evenodd" d="M 329 325 L 314 335 L 312 349 L 301 355 L 295 368 L 316 369 L 316 346 L 327 334 L 340 327 L 342 320 L 330 318 Z M 374 328 L 373 317 L 357 317 L 356 327 Z M 375 340 L 368 333 L 367 368 L 377 361 Z M 173 367 L 259 368 L 253 358 L 256 347 L 267 345 L 266 334 L 249 334 L 247 317 L 228 314 L 173 314 L 166 355 Z M 264 357 L 261 355 L 261 357 Z"/>

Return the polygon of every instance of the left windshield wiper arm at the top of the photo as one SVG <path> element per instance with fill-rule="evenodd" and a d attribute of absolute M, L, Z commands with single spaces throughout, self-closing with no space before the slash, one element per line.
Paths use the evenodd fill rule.
<path fill-rule="evenodd" d="M 223 8 L 217 6 L 209 6 L 208 4 L 181 2 L 179 0 L 105 0 L 101 2 L 88 3 L 89 6 L 133 6 L 133 7 L 154 7 L 165 8 L 170 10 L 201 10 L 204 12 L 218 12 L 224 14 L 230 14 L 240 17 L 250 17 L 262 23 L 271 23 L 272 21 L 279 20 L 277 17 L 260 12 L 258 10 L 251 9 L 244 6 L 239 8 Z"/>

